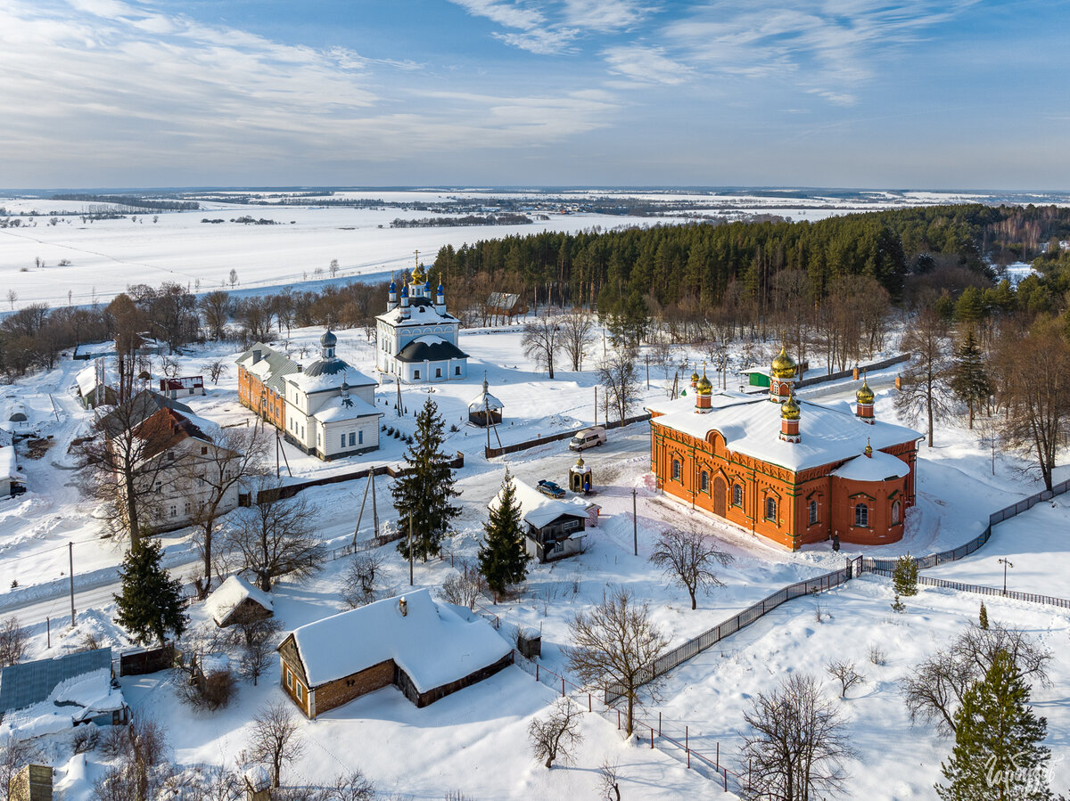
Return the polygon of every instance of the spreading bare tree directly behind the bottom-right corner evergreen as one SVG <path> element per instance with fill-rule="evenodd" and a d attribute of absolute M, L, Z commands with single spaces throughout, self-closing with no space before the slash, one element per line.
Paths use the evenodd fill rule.
<path fill-rule="evenodd" d="M 921 662 L 900 686 L 911 721 L 935 723 L 944 734 L 956 731 L 954 713 L 966 691 L 983 678 L 996 654 L 1006 651 L 1025 677 L 1048 683 L 1052 654 L 1025 632 L 990 622 L 972 625 L 948 647 Z"/>

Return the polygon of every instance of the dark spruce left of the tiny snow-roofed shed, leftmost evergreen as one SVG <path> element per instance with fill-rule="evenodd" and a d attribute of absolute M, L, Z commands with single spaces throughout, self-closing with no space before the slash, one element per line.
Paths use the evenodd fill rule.
<path fill-rule="evenodd" d="M 142 541 L 139 549 L 128 551 L 120 568 L 122 592 L 112 596 L 116 622 L 142 645 L 153 638 L 164 645 L 168 632 L 181 636 L 189 621 L 184 611 L 182 583 L 172 580 L 159 564 L 160 555 L 159 543 L 155 541 Z"/>

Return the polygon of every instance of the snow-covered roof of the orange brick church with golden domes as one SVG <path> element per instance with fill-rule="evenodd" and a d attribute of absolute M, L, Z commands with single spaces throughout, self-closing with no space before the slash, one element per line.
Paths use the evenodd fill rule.
<path fill-rule="evenodd" d="M 694 411 L 693 399 L 673 402 L 674 411 L 651 420 L 654 427 L 664 427 L 704 440 L 710 431 L 724 437 L 725 447 L 763 462 L 777 464 L 791 471 L 819 467 L 842 462 L 860 455 L 867 442 L 874 450 L 892 445 L 914 442 L 922 436 L 918 431 L 883 420 L 873 425 L 862 422 L 850 406 L 823 405 L 799 400 L 798 443 L 780 438 L 780 404 L 767 396 L 731 399 L 729 395 L 714 395 L 714 410 L 705 414 Z M 720 404 L 718 401 L 721 401 Z M 684 403 L 686 402 L 686 407 Z M 661 409 L 670 404 L 659 404 Z"/>

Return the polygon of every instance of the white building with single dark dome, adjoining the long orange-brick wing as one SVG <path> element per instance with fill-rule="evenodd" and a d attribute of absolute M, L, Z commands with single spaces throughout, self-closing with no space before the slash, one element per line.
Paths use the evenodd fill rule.
<path fill-rule="evenodd" d="M 284 376 L 286 436 L 306 453 L 337 459 L 379 447 L 378 383 L 335 355 L 338 338 L 320 337 L 320 358 Z"/>

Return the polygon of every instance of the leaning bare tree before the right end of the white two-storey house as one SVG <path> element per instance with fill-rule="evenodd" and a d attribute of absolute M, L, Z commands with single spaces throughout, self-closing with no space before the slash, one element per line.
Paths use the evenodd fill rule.
<path fill-rule="evenodd" d="M 196 488 L 194 537 L 204 566 L 195 580 L 198 598 L 212 587 L 212 545 L 219 519 L 236 504 L 239 490 L 263 472 L 268 437 L 262 426 L 220 429 L 211 445 L 186 457 L 182 469 L 190 489 Z"/>

